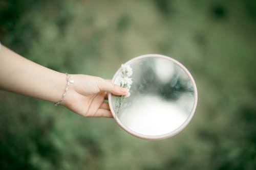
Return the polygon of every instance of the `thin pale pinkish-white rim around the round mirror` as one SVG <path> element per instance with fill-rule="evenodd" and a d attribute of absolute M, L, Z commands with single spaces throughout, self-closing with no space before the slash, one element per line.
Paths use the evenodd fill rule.
<path fill-rule="evenodd" d="M 193 108 L 191 109 L 191 112 L 189 114 L 189 116 L 187 117 L 187 119 L 185 120 L 185 122 L 179 127 L 177 128 L 176 130 L 172 131 L 172 132 L 169 132 L 169 133 L 166 133 L 166 134 L 163 134 L 163 135 L 144 135 L 144 134 L 140 134 L 140 133 L 137 133 L 131 129 L 129 129 L 128 127 L 126 127 L 120 120 L 119 118 L 115 115 L 115 111 L 114 111 L 114 108 L 112 106 L 112 101 L 111 101 L 111 97 L 112 97 L 112 94 L 109 94 L 109 105 L 110 105 L 110 110 L 111 110 L 111 113 L 113 115 L 113 117 L 115 118 L 116 122 L 118 123 L 119 126 L 121 126 L 122 129 L 124 129 L 126 132 L 130 133 L 131 135 L 134 135 L 136 137 L 139 137 L 139 138 L 142 138 L 142 139 L 149 139 L 149 140 L 159 140 L 159 139 L 165 139 L 165 138 L 168 138 L 168 137 L 171 137 L 171 136 L 174 136 L 176 135 L 177 133 L 179 133 L 180 131 L 182 131 L 186 126 L 187 124 L 190 122 L 191 118 L 193 117 L 194 115 L 194 112 L 196 110 L 196 107 L 197 107 L 197 99 L 198 99 L 198 94 L 197 94 L 197 87 L 196 87 L 196 83 L 193 79 L 193 77 L 191 76 L 191 74 L 189 73 L 189 71 L 178 61 L 176 61 L 175 59 L 173 58 L 170 58 L 170 57 L 167 57 L 167 56 L 163 56 L 163 55 L 159 55 L 159 54 L 147 54 L 147 55 L 142 55 L 142 56 L 139 56 L 139 57 L 136 57 L 136 58 L 133 58 L 129 61 L 127 61 L 125 63 L 126 64 L 131 64 L 133 63 L 134 61 L 136 60 L 139 60 L 139 59 L 143 59 L 143 58 L 148 58 L 148 57 L 157 57 L 157 58 L 163 58 L 163 59 L 166 59 L 166 60 L 169 60 L 169 61 L 172 61 L 174 62 L 175 64 L 177 64 L 180 68 L 182 68 L 187 76 L 189 77 L 189 79 L 191 80 L 191 83 L 193 85 L 193 88 L 194 88 L 194 105 L 193 105 Z M 112 82 L 114 83 L 115 79 L 117 78 L 118 74 L 119 74 L 119 71 L 121 70 L 121 68 L 119 68 L 113 79 L 112 79 Z"/>

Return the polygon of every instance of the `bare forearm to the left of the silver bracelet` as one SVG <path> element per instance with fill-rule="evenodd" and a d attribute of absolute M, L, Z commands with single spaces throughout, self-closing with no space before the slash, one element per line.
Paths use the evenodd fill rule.
<path fill-rule="evenodd" d="M 66 87 L 66 75 L 36 64 L 2 45 L 0 89 L 57 102 Z"/>

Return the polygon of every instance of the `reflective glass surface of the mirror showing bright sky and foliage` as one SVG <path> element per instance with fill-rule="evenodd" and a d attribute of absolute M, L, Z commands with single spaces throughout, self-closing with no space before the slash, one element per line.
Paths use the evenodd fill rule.
<path fill-rule="evenodd" d="M 143 135 L 163 135 L 179 128 L 194 105 L 194 89 L 186 72 L 171 60 L 148 57 L 130 63 L 131 95 L 115 110 L 127 128 Z M 114 81 L 119 83 L 119 77 Z M 112 95 L 112 106 L 119 96 Z"/>

